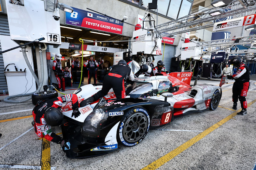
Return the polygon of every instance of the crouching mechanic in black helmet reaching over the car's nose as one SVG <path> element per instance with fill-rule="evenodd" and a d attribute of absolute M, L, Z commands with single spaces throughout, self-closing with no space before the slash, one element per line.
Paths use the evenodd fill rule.
<path fill-rule="evenodd" d="M 59 126 L 63 120 L 63 115 L 60 111 L 62 103 L 72 102 L 73 113 L 72 116 L 78 117 L 78 100 L 75 94 L 69 94 L 62 97 L 57 97 L 47 101 L 39 102 L 33 109 L 32 115 L 34 117 L 35 133 L 39 137 L 44 137 L 46 140 L 61 144 L 63 151 L 70 149 L 69 142 L 52 132 L 51 126 Z"/>

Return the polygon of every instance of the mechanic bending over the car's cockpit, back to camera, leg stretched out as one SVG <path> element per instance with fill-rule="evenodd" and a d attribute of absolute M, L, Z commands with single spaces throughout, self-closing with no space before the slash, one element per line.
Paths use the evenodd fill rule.
<path fill-rule="evenodd" d="M 109 90 L 113 88 L 116 99 L 125 98 L 125 86 L 124 79 L 134 81 L 134 75 L 125 60 L 120 60 L 117 65 L 112 66 L 111 70 L 104 77 L 102 89 L 98 91 L 92 97 L 83 100 L 80 106 L 83 107 L 87 104 L 94 102 L 95 100 L 108 94 Z"/>

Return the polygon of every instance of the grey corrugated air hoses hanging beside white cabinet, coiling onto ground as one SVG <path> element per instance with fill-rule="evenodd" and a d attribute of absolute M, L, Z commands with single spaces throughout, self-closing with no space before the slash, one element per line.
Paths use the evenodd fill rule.
<path fill-rule="evenodd" d="M 24 60 L 28 66 L 28 69 L 30 70 L 30 72 L 32 73 L 34 79 L 35 79 L 35 82 L 38 84 L 38 88 L 36 91 L 32 92 L 32 93 L 27 93 L 27 94 L 20 94 L 20 95 L 13 95 L 13 96 L 8 96 L 6 97 L 5 99 L 3 99 L 4 102 L 6 103 L 23 103 L 23 102 L 26 102 L 26 101 L 29 101 L 31 100 L 31 95 L 35 92 L 38 92 L 41 90 L 42 86 L 43 86 L 43 81 L 44 81 L 44 63 L 43 63 L 43 52 L 42 52 L 42 49 L 41 49 L 41 44 L 39 44 L 39 57 L 40 57 L 40 66 L 41 66 L 41 77 L 40 77 L 40 83 L 39 83 L 39 80 L 37 78 L 37 76 L 35 75 L 29 61 L 28 61 L 28 56 L 26 54 L 26 46 L 22 46 L 22 53 L 23 53 L 23 57 L 24 57 Z M 15 98 L 15 97 L 25 97 L 25 96 L 30 96 L 29 98 L 27 99 L 23 99 L 23 100 L 9 100 L 11 98 Z"/>

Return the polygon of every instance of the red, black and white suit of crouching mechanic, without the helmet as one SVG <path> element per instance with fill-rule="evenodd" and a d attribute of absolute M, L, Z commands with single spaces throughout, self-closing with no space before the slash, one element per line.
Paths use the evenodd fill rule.
<path fill-rule="evenodd" d="M 60 143 L 63 139 L 52 132 L 51 126 L 46 124 L 44 119 L 44 114 L 48 108 L 55 107 L 61 109 L 62 103 L 64 102 L 72 102 L 72 109 L 78 109 L 78 100 L 75 94 L 69 94 L 62 97 L 57 97 L 51 100 L 43 101 L 40 104 L 37 104 L 32 112 L 34 118 L 34 128 L 35 133 L 39 137 L 44 137 L 46 140 L 53 141 L 55 143 Z"/>

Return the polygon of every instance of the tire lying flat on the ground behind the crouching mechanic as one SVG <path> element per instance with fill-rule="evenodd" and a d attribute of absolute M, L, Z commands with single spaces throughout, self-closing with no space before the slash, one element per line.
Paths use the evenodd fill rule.
<path fill-rule="evenodd" d="M 40 100 L 49 100 L 58 97 L 56 91 L 46 91 L 47 94 L 44 94 L 44 91 L 36 92 L 32 94 L 32 103 L 36 105 Z"/>

